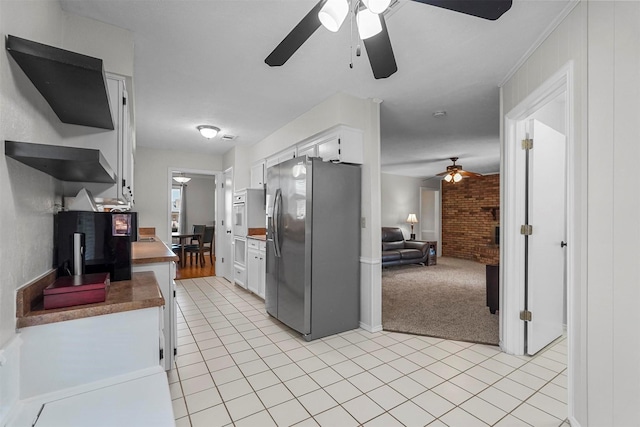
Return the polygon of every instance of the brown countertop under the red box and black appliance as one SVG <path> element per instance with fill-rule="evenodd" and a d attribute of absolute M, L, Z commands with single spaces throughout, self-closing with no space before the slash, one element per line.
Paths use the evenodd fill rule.
<path fill-rule="evenodd" d="M 41 298 L 42 289 L 55 280 L 55 273 L 56 271 L 52 270 L 28 286 L 18 289 L 16 327 L 46 325 L 164 305 L 164 298 L 158 287 L 155 274 L 151 271 L 144 271 L 133 273 L 131 280 L 111 282 L 107 299 L 104 302 L 44 310 Z"/>

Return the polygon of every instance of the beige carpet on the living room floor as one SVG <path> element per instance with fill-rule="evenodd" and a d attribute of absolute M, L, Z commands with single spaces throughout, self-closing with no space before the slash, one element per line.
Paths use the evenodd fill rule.
<path fill-rule="evenodd" d="M 441 257 L 429 267 L 383 268 L 382 327 L 498 345 L 498 312 L 486 306 L 485 265 Z"/>

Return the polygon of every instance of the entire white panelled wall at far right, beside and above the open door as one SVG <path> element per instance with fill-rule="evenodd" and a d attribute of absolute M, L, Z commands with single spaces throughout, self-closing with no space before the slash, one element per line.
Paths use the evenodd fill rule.
<path fill-rule="evenodd" d="M 640 425 L 639 22 L 638 2 L 579 3 L 502 91 L 507 113 L 573 61 L 569 403 L 581 426 Z"/>

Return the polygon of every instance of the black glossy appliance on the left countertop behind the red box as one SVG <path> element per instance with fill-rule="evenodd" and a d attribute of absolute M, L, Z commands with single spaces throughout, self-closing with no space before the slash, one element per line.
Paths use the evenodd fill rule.
<path fill-rule="evenodd" d="M 54 218 L 58 276 L 106 272 L 114 282 L 131 279 L 131 242 L 138 239 L 136 212 L 65 211 Z"/>

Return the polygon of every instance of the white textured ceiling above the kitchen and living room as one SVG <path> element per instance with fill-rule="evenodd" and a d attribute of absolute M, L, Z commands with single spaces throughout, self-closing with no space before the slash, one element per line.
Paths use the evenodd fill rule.
<path fill-rule="evenodd" d="M 264 58 L 315 0 L 62 0 L 131 30 L 139 146 L 222 154 L 255 144 L 337 92 L 379 98 L 382 171 L 431 177 L 459 157 L 499 165 L 499 84 L 569 0 L 515 0 L 497 21 L 400 0 L 387 15 L 398 72 L 373 78 L 349 22 L 320 28 L 282 67 Z M 349 63 L 353 61 L 353 68 Z M 445 110 L 446 116 L 433 117 Z M 202 138 L 212 124 L 234 141 Z"/>

